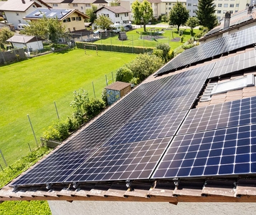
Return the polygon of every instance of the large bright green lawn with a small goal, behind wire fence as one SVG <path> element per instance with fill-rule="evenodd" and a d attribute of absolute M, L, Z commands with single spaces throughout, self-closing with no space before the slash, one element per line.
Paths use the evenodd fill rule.
<path fill-rule="evenodd" d="M 29 125 L 29 114 L 37 135 L 57 120 L 56 101 L 60 118 L 70 115 L 74 90 L 81 87 L 93 96 L 105 87 L 105 74 L 112 79 L 115 71 L 136 54 L 87 51 L 82 49 L 56 52 L 0 67 L 0 150 L 8 164 L 29 153 L 36 143 Z M 28 145 L 29 143 L 29 145 Z M 0 156 L 0 164 L 4 167 Z"/>

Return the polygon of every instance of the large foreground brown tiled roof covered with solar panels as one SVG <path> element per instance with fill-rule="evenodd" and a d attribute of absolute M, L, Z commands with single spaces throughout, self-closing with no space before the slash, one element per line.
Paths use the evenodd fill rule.
<path fill-rule="evenodd" d="M 2 188 L 1 200 L 255 202 L 255 77 L 202 100 L 213 82 L 256 75 L 256 34 L 248 31 L 256 27 L 224 38 L 236 45 L 227 53 L 177 70 L 164 65 Z M 224 50 L 221 42 L 208 52 Z"/>

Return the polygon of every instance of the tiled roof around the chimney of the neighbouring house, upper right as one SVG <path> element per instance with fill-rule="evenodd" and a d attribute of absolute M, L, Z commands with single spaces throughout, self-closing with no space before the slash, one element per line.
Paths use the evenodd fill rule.
<path fill-rule="evenodd" d="M 256 21 L 256 9 L 252 9 L 252 13 L 250 14 L 248 14 L 247 9 L 243 11 L 239 11 L 235 14 L 232 14 L 228 29 L 224 29 L 224 19 L 221 19 L 217 27 L 214 27 L 214 29 L 207 32 L 207 34 L 205 34 L 204 37 L 202 37 L 199 40 L 201 41 L 204 39 L 208 39 L 210 37 L 215 37 L 219 34 L 223 34 L 224 32 L 229 32 L 232 29 L 245 26 L 255 21 Z"/>

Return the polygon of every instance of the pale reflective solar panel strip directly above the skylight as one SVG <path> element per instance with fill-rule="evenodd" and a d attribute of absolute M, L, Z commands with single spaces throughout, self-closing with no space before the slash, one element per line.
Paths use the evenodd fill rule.
<path fill-rule="evenodd" d="M 245 70 L 250 67 L 256 67 L 256 50 L 237 54 L 234 57 L 228 57 L 222 59 L 222 61 L 216 62 L 209 77 L 219 77 L 232 72 Z"/>

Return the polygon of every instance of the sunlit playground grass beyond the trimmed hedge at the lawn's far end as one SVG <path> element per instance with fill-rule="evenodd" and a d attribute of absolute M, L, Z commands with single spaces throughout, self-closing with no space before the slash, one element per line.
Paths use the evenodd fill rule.
<path fill-rule="evenodd" d="M 151 28 L 147 28 L 148 32 L 150 34 Z M 161 30 L 161 28 L 155 28 Z M 188 41 L 191 38 L 190 35 L 190 29 L 181 29 L 184 30 L 184 42 Z M 94 42 L 96 44 L 119 44 L 119 45 L 125 45 L 125 46 L 134 46 L 134 47 L 156 47 L 157 42 L 162 42 L 162 43 L 168 43 L 171 47 L 171 49 L 176 49 L 177 47 L 181 46 L 183 43 L 182 42 L 171 42 L 171 39 L 175 37 L 181 37 L 179 36 L 177 29 L 171 29 L 171 30 L 166 30 L 164 29 L 164 33 L 162 34 L 163 38 L 157 38 L 156 41 L 151 40 L 151 36 L 149 35 L 149 39 L 140 39 L 140 34 L 137 32 L 143 32 L 143 28 L 141 29 L 133 29 L 129 32 L 126 32 L 126 35 L 128 37 L 127 40 L 125 41 L 120 41 L 118 39 L 118 34 L 113 34 L 115 36 L 109 37 L 107 39 L 99 39 L 98 41 Z M 194 33 L 196 34 L 199 32 L 199 29 L 194 29 Z M 144 37 L 143 35 L 142 37 Z"/>

